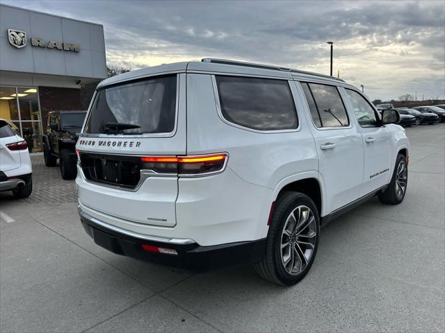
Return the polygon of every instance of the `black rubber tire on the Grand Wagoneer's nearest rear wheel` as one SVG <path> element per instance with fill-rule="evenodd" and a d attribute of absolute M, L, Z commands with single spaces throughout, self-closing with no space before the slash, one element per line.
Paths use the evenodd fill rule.
<path fill-rule="evenodd" d="M 287 268 L 285 267 L 284 259 L 282 259 L 282 237 L 284 232 L 284 227 L 286 226 L 286 220 L 288 216 L 291 215 L 292 212 L 296 210 L 297 207 L 307 207 L 309 210 L 312 211 L 312 215 L 308 213 L 308 219 L 314 217 L 314 221 L 311 223 L 311 231 L 315 231 L 315 236 L 312 242 L 314 244 L 312 245 L 312 254 L 309 254 L 309 260 L 306 262 L 304 268 L 302 268 L 303 262 L 302 259 L 300 260 L 300 271 L 295 274 L 289 273 L 287 271 Z M 296 223 L 298 224 L 298 223 Z M 302 228 L 301 230 L 309 230 L 309 226 L 306 228 Z M 302 231 L 300 231 L 302 232 Z M 300 237 L 306 237 L 306 236 L 300 236 Z M 318 216 L 318 210 L 316 205 L 314 204 L 314 201 L 312 201 L 309 196 L 306 196 L 305 194 L 299 193 L 299 192 L 292 192 L 292 191 L 286 191 L 284 194 L 280 196 L 280 198 L 277 200 L 277 203 L 275 205 L 275 210 L 273 212 L 273 218 L 270 223 L 268 236 L 267 236 L 267 243 L 266 243 L 266 253 L 264 255 L 264 258 L 261 260 L 261 262 L 258 262 L 255 264 L 254 268 L 255 271 L 261 277 L 265 278 L 266 280 L 269 280 L 270 282 L 281 284 L 285 286 L 291 286 L 293 284 L 296 284 L 302 278 L 305 278 L 305 275 L 309 271 L 309 269 L 312 266 L 312 263 L 314 262 L 314 259 L 316 257 L 316 252 L 318 249 L 318 239 L 320 237 L 320 217 Z M 297 237 L 296 239 L 299 239 Z M 307 238 L 307 241 L 309 241 L 309 238 Z M 294 241 L 295 242 L 295 241 Z M 291 239 L 289 238 L 289 251 L 292 252 L 294 249 Z M 300 251 L 301 248 L 297 246 Z M 305 248 L 305 253 L 307 253 L 308 248 Z M 296 252 L 297 253 L 297 252 Z M 301 255 L 302 253 L 300 253 Z M 293 252 L 289 253 L 289 255 L 295 255 Z M 293 257 L 292 257 L 293 258 Z M 296 257 L 297 258 L 297 257 Z M 299 256 L 299 258 L 301 258 Z M 291 259 L 289 257 L 289 260 L 292 260 L 291 263 L 291 271 L 294 268 L 295 262 L 293 262 L 294 259 Z"/>

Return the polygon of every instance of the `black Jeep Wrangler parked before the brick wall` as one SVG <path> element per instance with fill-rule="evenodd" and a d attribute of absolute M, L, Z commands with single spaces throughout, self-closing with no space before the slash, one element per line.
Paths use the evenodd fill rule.
<path fill-rule="evenodd" d="M 74 179 L 76 169 L 77 133 L 81 131 L 86 111 L 51 111 L 48 113 L 47 129 L 43 135 L 44 164 L 56 167 L 60 164 L 63 179 Z"/>

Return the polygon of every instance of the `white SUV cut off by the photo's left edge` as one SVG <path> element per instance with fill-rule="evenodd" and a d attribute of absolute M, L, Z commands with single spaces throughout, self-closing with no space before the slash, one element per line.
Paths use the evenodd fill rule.
<path fill-rule="evenodd" d="M 0 119 L 0 191 L 13 191 L 16 198 L 33 191 L 28 145 L 4 119 Z"/>

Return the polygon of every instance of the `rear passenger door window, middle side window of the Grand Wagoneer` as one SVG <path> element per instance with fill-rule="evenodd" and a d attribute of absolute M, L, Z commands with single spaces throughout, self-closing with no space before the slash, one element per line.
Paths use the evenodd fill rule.
<path fill-rule="evenodd" d="M 302 87 L 316 127 L 349 126 L 348 114 L 337 87 L 318 83 L 302 83 Z"/>

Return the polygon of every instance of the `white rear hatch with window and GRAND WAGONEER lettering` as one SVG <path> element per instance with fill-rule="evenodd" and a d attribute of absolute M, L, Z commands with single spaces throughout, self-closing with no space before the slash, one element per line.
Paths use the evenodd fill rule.
<path fill-rule="evenodd" d="M 76 148 L 82 205 L 131 223 L 175 226 L 176 174 L 147 171 L 143 157 L 185 155 L 185 74 L 99 89 Z"/>

